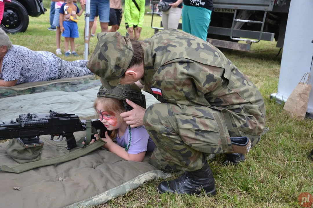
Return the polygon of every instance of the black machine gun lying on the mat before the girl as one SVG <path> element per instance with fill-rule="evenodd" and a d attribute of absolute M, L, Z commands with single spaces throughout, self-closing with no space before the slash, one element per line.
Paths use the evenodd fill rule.
<path fill-rule="evenodd" d="M 57 113 L 50 110 L 50 114 L 20 114 L 15 121 L 0 121 L 0 140 L 17 138 L 26 148 L 44 145 L 39 140 L 40 135 L 51 135 L 50 140 L 61 141 L 65 137 L 67 149 L 76 147 L 73 135 L 77 131 L 87 130 L 87 121 L 80 120 L 78 115 Z M 91 126 L 105 132 L 106 128 L 100 119 L 92 119 Z M 54 139 L 54 137 L 57 137 Z M 100 135 L 101 136 L 101 135 Z"/>

